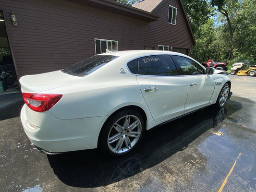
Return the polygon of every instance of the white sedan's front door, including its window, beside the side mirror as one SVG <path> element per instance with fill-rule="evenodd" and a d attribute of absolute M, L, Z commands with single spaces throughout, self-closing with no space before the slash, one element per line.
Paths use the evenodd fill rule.
<path fill-rule="evenodd" d="M 212 75 L 207 75 L 205 70 L 194 60 L 186 57 L 172 55 L 179 73 L 188 85 L 188 97 L 185 104 L 185 113 L 207 106 L 213 94 L 215 80 Z"/>

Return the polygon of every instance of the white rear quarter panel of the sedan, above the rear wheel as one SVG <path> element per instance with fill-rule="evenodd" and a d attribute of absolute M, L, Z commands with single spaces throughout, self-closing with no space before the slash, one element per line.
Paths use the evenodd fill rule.
<path fill-rule="evenodd" d="M 48 93 L 63 94 L 49 111 L 60 119 L 79 119 L 109 116 L 119 108 L 135 105 L 142 108 L 147 119 L 151 120 L 136 76 L 126 68 L 126 58 L 109 64 L 85 76 L 77 84 L 48 90 Z M 120 72 L 121 68 L 125 73 Z"/>

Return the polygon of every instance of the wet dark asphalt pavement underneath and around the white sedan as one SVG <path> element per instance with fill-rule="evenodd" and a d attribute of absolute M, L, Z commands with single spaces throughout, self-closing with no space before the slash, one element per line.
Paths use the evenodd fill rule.
<path fill-rule="evenodd" d="M 211 106 L 150 130 L 119 158 L 97 149 L 39 153 L 18 113 L 7 118 L 4 111 L 0 192 L 256 192 L 256 103 L 250 99 L 232 96 L 225 108 Z M 218 131 L 223 135 L 213 134 Z"/>

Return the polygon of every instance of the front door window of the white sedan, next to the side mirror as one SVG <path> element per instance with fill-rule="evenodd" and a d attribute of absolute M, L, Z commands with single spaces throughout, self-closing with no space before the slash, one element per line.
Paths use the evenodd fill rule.
<path fill-rule="evenodd" d="M 193 60 L 177 55 L 173 55 L 172 58 L 176 64 L 180 65 L 181 75 L 205 74 L 204 69 Z"/>

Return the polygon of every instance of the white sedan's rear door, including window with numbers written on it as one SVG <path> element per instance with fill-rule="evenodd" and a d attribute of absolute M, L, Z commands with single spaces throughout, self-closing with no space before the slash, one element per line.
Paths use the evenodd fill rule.
<path fill-rule="evenodd" d="M 184 113 L 187 82 L 178 76 L 170 55 L 142 57 L 128 63 L 128 68 L 138 74 L 137 82 L 154 120 L 167 120 Z"/>

